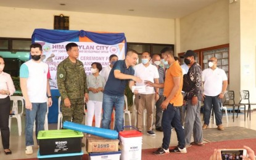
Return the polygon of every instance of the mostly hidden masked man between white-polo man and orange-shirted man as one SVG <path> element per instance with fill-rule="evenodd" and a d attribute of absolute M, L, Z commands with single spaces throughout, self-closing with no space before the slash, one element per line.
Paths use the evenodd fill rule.
<path fill-rule="evenodd" d="M 152 56 L 152 63 L 153 65 L 155 65 L 157 67 L 158 73 L 159 73 L 159 83 L 163 83 L 165 81 L 165 70 L 163 70 L 163 68 L 160 65 L 160 55 L 158 54 L 154 54 Z M 163 110 L 161 107 L 161 104 L 164 100 L 163 97 L 163 88 L 159 89 L 159 93 L 155 92 L 155 94 L 159 94 L 159 99 L 155 102 L 155 130 L 158 130 L 160 132 L 163 132 L 163 127 L 162 127 L 162 114 L 163 114 Z"/>

